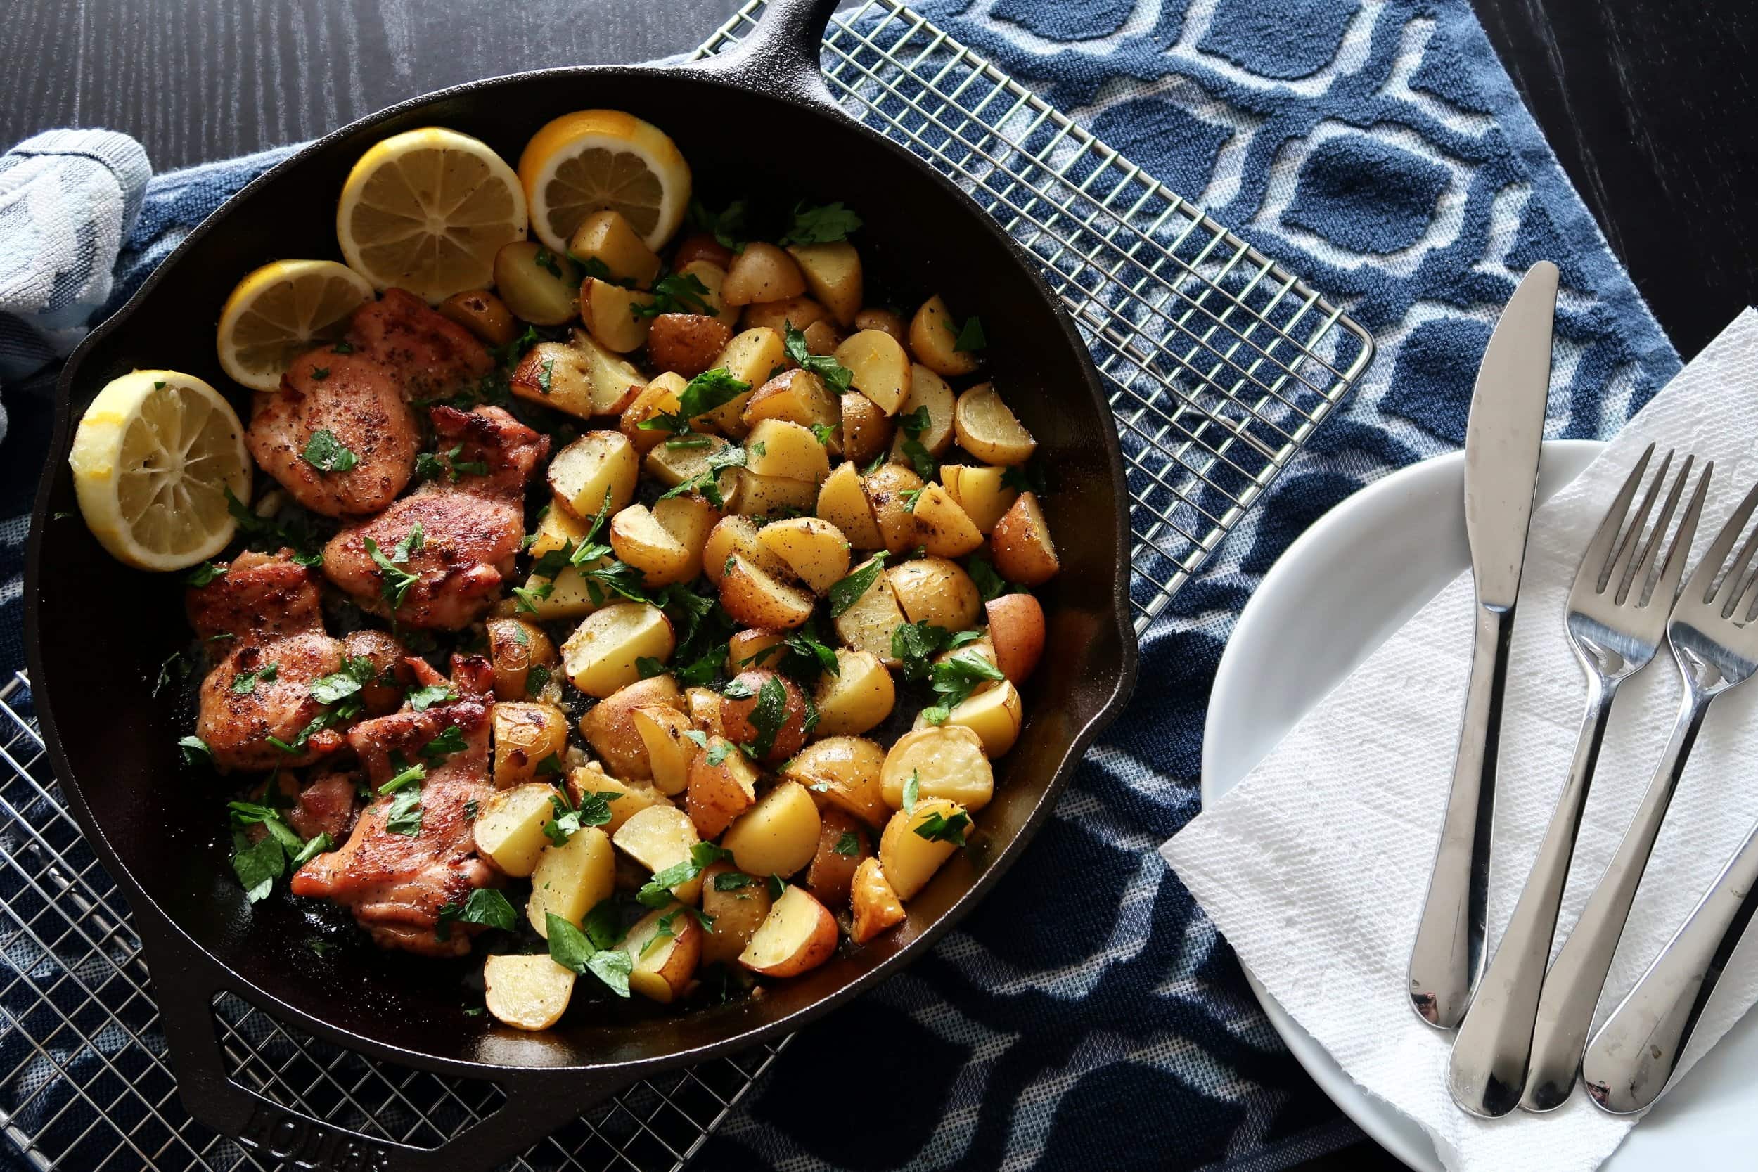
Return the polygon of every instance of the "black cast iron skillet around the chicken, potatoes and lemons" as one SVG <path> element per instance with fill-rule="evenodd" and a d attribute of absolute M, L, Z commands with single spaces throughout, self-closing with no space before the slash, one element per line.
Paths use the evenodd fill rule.
<path fill-rule="evenodd" d="M 1097 374 L 1030 257 L 914 155 L 837 109 L 817 69 L 835 7 L 774 0 L 744 46 L 687 67 L 519 74 L 364 118 L 209 216 L 69 360 L 26 562 L 37 712 L 74 814 L 135 914 L 183 1102 L 202 1123 L 302 1167 L 489 1168 L 636 1079 L 796 1030 L 897 972 L 981 898 L 1129 696 L 1129 497 Z M 863 250 L 888 250 L 914 288 L 981 311 L 990 371 L 1037 436 L 1037 460 L 1050 473 L 1062 575 L 1042 596 L 1044 659 L 1027 689 L 1020 743 L 979 819 L 983 847 L 942 868 L 911 903 L 907 924 L 761 1000 L 675 1016 L 643 1010 L 635 998 L 529 1035 L 468 1016 L 455 965 L 364 944 L 320 958 L 306 947 L 313 928 L 304 917 L 316 915 L 297 907 L 306 901 L 244 901 L 218 843 L 222 789 L 178 761 L 186 713 L 169 694 L 149 696 L 160 664 L 190 640 L 178 576 L 125 569 L 77 518 L 49 518 L 76 510 L 65 459 L 72 425 L 111 378 L 169 365 L 229 387 L 214 360 L 227 292 L 267 260 L 338 255 L 336 197 L 373 142 L 443 125 L 517 158 L 545 121 L 587 107 L 626 109 L 663 127 L 710 197 L 751 190 L 846 200 L 865 220 Z M 724 193 L 714 192 L 716 177 Z M 241 390 L 236 406 L 248 411 Z M 222 991 L 373 1058 L 492 1079 L 505 1105 L 434 1149 L 302 1118 L 227 1077 L 211 1014 Z"/>

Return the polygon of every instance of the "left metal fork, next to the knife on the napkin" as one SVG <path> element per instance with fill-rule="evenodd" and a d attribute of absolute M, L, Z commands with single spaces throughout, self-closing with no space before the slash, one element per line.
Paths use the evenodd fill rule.
<path fill-rule="evenodd" d="M 1653 455 L 1654 445 L 1649 445 L 1617 490 L 1587 552 L 1580 555 L 1580 569 L 1575 571 L 1575 585 L 1568 592 L 1563 626 L 1587 676 L 1587 710 L 1580 719 L 1575 759 L 1570 763 L 1568 780 L 1563 782 L 1551 826 L 1538 847 L 1538 859 L 1452 1044 L 1447 1086 L 1454 1102 L 1473 1116 L 1505 1116 L 1521 1102 L 1533 1017 L 1538 1012 L 1538 989 L 1544 984 L 1545 961 L 1551 958 L 1563 882 L 1575 854 L 1580 812 L 1593 785 L 1593 768 L 1612 715 L 1612 699 L 1617 696 L 1617 687 L 1642 671 L 1660 650 L 1667 633 L 1667 611 L 1672 610 L 1679 592 L 1684 559 L 1691 552 L 1696 520 L 1704 511 L 1704 494 L 1709 490 L 1714 464 L 1698 476 L 1696 492 L 1691 494 L 1660 575 L 1654 576 L 1656 557 L 1672 527 L 1695 459 L 1684 457 L 1660 517 L 1644 541 L 1644 529 L 1667 481 L 1674 453 L 1668 452 L 1661 459 L 1660 471 L 1642 494 L 1642 504 L 1631 513 L 1630 503 L 1642 485 Z"/>

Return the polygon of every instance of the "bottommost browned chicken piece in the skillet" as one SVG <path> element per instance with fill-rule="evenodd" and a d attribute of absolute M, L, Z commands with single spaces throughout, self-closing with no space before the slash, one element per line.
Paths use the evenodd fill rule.
<path fill-rule="evenodd" d="M 425 777 L 376 796 L 339 850 L 316 856 L 292 879 L 294 894 L 350 907 L 380 947 L 425 956 L 469 951 L 476 928 L 454 924 L 441 940 L 440 910 L 448 903 L 462 907 L 471 891 L 498 882 L 496 872 L 476 857 L 471 826 L 476 803 L 494 792 L 489 784 L 489 701 L 464 691 L 464 678 L 454 682 L 461 698 L 452 703 L 362 720 L 348 733 L 348 745 L 360 756 L 374 791 L 411 763 L 424 766 Z M 464 747 L 443 752 L 436 747 L 440 736 L 461 736 Z M 411 824 L 413 812 L 403 810 L 399 829 L 392 829 L 399 798 L 408 805 L 411 789 L 418 794 L 420 822 Z M 399 833 L 403 829 L 415 833 Z"/>

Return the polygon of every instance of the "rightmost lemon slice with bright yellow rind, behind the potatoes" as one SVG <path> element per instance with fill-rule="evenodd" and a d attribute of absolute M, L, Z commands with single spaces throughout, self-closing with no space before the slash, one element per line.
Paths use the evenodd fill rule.
<path fill-rule="evenodd" d="M 659 127 L 622 111 L 575 111 L 526 142 L 519 181 L 531 202 L 531 230 L 556 251 L 594 211 L 622 213 L 659 250 L 689 207 L 689 163 Z"/>

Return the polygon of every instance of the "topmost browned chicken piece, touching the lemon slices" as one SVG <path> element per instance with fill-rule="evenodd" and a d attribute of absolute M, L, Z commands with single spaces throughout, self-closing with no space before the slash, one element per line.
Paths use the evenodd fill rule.
<path fill-rule="evenodd" d="M 450 394 L 492 365 L 455 322 L 385 290 L 355 311 L 346 343 L 301 355 L 280 388 L 257 392 L 250 453 L 313 513 L 376 513 L 415 474 L 420 427 L 410 401 Z"/>

